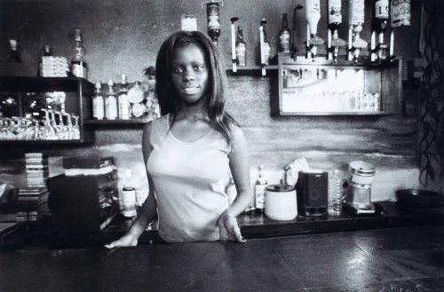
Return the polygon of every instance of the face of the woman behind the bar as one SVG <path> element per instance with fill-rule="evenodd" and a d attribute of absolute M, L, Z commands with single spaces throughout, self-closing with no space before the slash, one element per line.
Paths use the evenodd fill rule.
<path fill-rule="evenodd" d="M 195 44 L 174 51 L 171 81 L 182 101 L 194 104 L 202 99 L 209 86 L 208 70 L 205 56 Z"/>

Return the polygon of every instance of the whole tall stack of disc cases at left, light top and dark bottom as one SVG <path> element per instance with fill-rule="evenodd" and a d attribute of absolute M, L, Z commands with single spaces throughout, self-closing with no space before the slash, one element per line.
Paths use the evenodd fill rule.
<path fill-rule="evenodd" d="M 27 186 L 17 193 L 17 222 L 33 222 L 49 214 L 48 190 L 46 179 L 49 178 L 48 156 L 41 153 L 25 154 Z"/>

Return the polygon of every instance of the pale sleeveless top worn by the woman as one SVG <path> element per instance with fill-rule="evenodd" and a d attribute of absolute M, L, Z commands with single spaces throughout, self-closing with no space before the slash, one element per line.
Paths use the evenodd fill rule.
<path fill-rule="evenodd" d="M 170 131 L 170 114 L 153 120 L 147 170 L 155 185 L 159 236 L 167 242 L 218 241 L 218 218 L 228 208 L 224 178 L 231 148 L 211 129 L 183 142 Z"/>

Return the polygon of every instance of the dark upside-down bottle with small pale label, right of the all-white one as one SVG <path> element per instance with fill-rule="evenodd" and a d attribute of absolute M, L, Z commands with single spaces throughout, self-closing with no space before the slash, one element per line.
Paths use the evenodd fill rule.
<path fill-rule="evenodd" d="M 375 2 L 375 14 L 373 18 L 373 32 L 371 35 L 371 61 L 381 64 L 386 59 L 386 50 L 388 45 L 384 43 L 385 28 L 389 21 L 389 2 L 388 0 L 377 0 Z"/>

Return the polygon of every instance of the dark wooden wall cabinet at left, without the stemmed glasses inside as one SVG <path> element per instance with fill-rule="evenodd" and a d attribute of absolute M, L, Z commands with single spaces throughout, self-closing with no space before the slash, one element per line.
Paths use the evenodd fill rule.
<path fill-rule="evenodd" d="M 52 99 L 59 97 L 59 110 L 67 114 L 78 116 L 78 130 L 80 137 L 75 138 L 59 138 L 59 139 L 43 139 L 43 138 L 29 138 L 29 139 L 0 139 L 5 142 L 20 142 L 20 143 L 37 143 L 37 144 L 58 144 L 58 143 L 91 143 L 94 141 L 94 131 L 84 126 L 84 121 L 91 119 L 91 97 L 93 94 L 93 84 L 82 78 L 71 77 L 0 77 L 0 93 L 2 95 L 2 102 L 4 100 L 13 100 L 17 104 L 14 116 L 19 118 L 32 117 L 32 113 L 42 114 L 39 107 L 35 110 L 32 108 L 32 103 L 36 99 L 40 99 L 44 104 L 50 106 L 44 108 L 51 108 Z M 39 116 L 41 119 L 42 116 Z M 67 115 L 65 115 L 64 124 L 67 125 Z M 4 119 L 5 120 L 5 119 Z M 75 125 L 75 120 L 72 119 Z M 59 124 L 59 117 L 57 118 Z M 44 126 L 44 122 L 40 123 Z"/>

